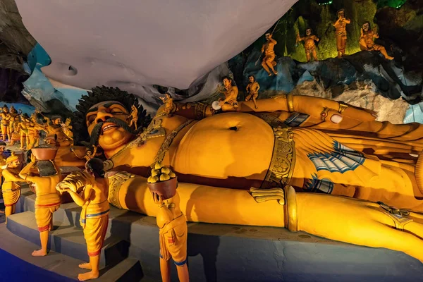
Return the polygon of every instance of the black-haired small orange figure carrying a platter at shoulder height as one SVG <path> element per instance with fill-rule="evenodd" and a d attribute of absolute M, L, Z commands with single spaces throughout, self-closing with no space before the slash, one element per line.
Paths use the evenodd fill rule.
<path fill-rule="evenodd" d="M 84 187 L 81 195 L 78 189 Z M 85 164 L 85 171 L 71 173 L 56 186 L 59 192 L 69 192 L 78 206 L 82 207 L 80 223 L 87 241 L 90 262 L 80 264 L 81 269 L 90 272 L 79 274 L 78 280 L 85 281 L 99 277 L 100 252 L 102 251 L 107 225 L 109 224 L 109 181 L 104 178 L 104 166 L 101 159 L 90 159 Z"/>

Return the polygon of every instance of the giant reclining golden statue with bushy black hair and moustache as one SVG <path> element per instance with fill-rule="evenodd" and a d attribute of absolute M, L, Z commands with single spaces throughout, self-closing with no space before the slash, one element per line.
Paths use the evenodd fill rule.
<path fill-rule="evenodd" d="M 422 125 L 281 95 L 214 115 L 207 104 L 176 103 L 135 133 L 127 123 L 134 102 L 96 87 L 75 118 L 75 138 L 104 151 L 115 207 L 156 216 L 147 177 L 161 161 L 178 176 L 188 221 L 285 227 L 423 262 Z"/>

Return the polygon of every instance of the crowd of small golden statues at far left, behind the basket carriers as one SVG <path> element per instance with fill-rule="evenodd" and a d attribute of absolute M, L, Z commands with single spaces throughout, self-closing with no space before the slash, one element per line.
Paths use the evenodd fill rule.
<path fill-rule="evenodd" d="M 38 114 L 47 123 L 38 123 Z M 8 109 L 6 105 L 1 108 L 0 118 L 2 140 L 10 142 L 9 145 L 20 141 L 19 149 L 31 149 L 39 145 L 40 130 L 44 130 L 47 133 L 47 137 L 44 139 L 47 144 L 56 146 L 73 145 L 71 118 L 66 118 L 66 121 L 62 123 L 61 116 L 48 118 L 39 111 L 35 111 L 31 116 L 28 116 L 26 113 L 22 114 L 16 111 L 14 106 Z"/>

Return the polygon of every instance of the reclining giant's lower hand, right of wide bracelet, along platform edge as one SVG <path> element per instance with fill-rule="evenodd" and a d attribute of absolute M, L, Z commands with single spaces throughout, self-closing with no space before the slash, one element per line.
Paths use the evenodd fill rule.
<path fill-rule="evenodd" d="M 379 204 L 345 197 L 298 193 L 296 204 L 301 231 L 345 243 L 405 252 L 423 262 L 421 223 L 406 223 L 407 232 L 395 229 L 396 222 Z"/>

